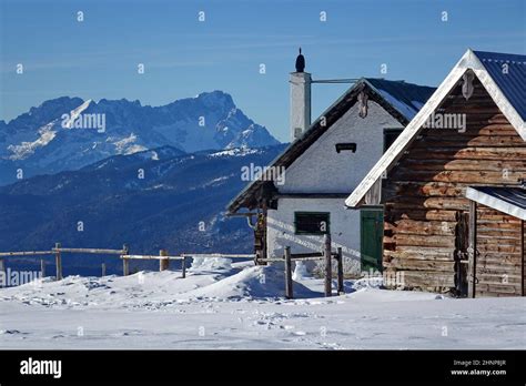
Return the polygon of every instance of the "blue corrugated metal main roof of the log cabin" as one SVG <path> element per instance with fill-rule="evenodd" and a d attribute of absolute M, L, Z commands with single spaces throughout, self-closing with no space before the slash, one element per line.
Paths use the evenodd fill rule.
<path fill-rule="evenodd" d="M 483 51 L 474 53 L 520 118 L 526 121 L 526 55 Z M 507 69 L 504 64 L 507 64 Z"/>

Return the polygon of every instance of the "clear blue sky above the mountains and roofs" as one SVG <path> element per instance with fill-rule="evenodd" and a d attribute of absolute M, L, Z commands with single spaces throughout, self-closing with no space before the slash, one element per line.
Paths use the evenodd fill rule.
<path fill-rule="evenodd" d="M 287 80 L 300 45 L 313 79 L 383 77 L 429 85 L 467 48 L 526 52 L 524 0 L 0 3 L 3 120 L 62 95 L 160 105 L 219 89 L 287 141 Z M 17 63 L 24 65 L 22 75 Z M 144 74 L 138 74 L 138 63 L 144 63 Z M 260 63 L 266 74 L 260 74 Z M 382 63 L 386 74 L 380 73 Z M 314 84 L 313 119 L 347 87 Z"/>

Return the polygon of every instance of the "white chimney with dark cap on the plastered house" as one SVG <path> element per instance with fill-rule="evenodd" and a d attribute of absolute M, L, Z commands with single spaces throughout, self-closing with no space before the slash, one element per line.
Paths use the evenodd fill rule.
<path fill-rule="evenodd" d="M 296 72 L 291 72 L 291 141 L 302 136 L 311 125 L 311 74 L 304 72 L 302 49 L 296 58 Z"/>

